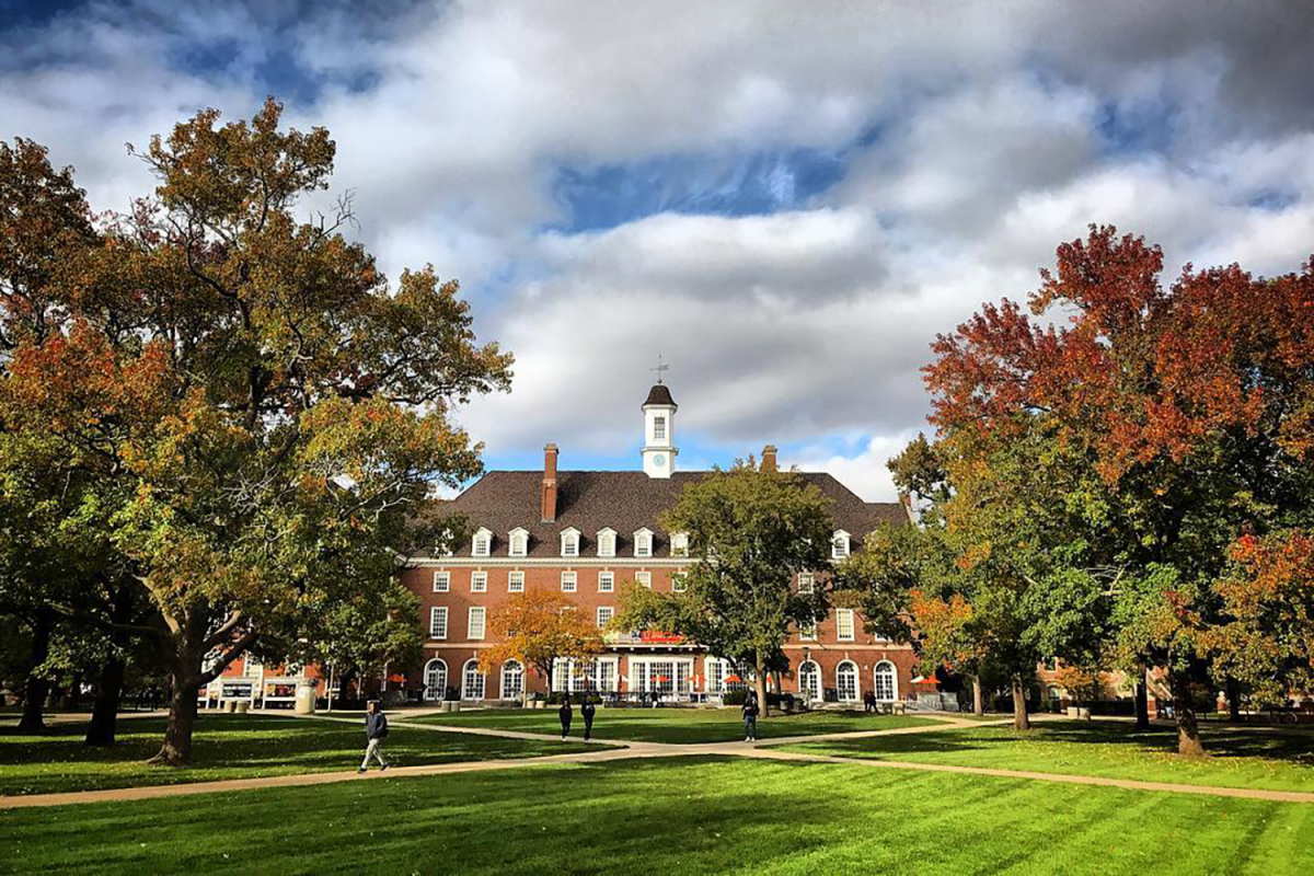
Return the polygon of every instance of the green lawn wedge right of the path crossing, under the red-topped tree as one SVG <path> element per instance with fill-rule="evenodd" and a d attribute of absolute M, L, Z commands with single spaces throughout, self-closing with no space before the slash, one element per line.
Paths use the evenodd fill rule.
<path fill-rule="evenodd" d="M 1204 738 L 1212 756 L 1202 760 L 1176 755 L 1176 730 L 1137 733 L 1116 721 L 1037 722 L 1024 734 L 986 726 L 786 747 L 848 758 L 1314 792 L 1314 733 L 1206 728 Z"/>

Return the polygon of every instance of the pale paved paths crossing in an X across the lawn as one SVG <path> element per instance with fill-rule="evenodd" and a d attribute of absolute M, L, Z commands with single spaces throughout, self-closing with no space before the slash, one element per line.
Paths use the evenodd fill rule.
<path fill-rule="evenodd" d="M 407 717 L 419 717 L 413 713 Z M 1025 770 L 992 770 L 988 767 L 961 767 L 943 763 L 911 763 L 905 760 L 874 760 L 869 758 L 840 758 L 824 754 L 807 754 L 802 751 L 782 751 L 774 746 L 792 745 L 798 742 L 820 742 L 829 739 L 861 739 L 879 735 L 904 735 L 911 733 L 930 733 L 949 728 L 988 726 L 991 724 L 1008 724 L 1012 718 L 1003 721 L 968 721 L 964 718 L 934 717 L 937 724 L 896 728 L 892 730 L 858 730 L 853 733 L 825 733 L 819 735 L 781 737 L 774 739 L 758 739 L 757 742 L 707 742 L 695 745 L 673 745 L 668 742 L 624 742 L 619 739 L 591 739 L 598 746 L 608 746 L 598 751 L 581 751 L 574 754 L 555 754 L 539 758 L 516 758 L 503 760 L 469 760 L 461 763 L 434 763 L 418 767 L 392 767 L 388 777 L 405 776 L 432 776 L 459 772 L 484 772 L 487 770 L 510 770 L 518 767 L 552 766 L 552 764 L 595 764 L 608 760 L 632 760 L 646 758 L 686 758 L 686 756 L 740 756 L 763 760 L 786 760 L 800 763 L 834 763 L 854 767 L 870 767 L 884 770 L 913 770 L 921 772 L 950 772 L 959 775 L 993 776 L 1001 779 L 1030 779 L 1034 781 L 1055 781 L 1059 784 L 1101 785 L 1106 788 L 1125 788 L 1129 791 L 1160 791 L 1167 793 L 1206 795 L 1213 797 L 1242 797 L 1246 800 L 1273 800 L 1281 802 L 1310 802 L 1314 804 L 1314 793 L 1300 791 L 1261 791 L 1257 788 L 1219 788 L 1214 785 L 1185 785 L 1168 784 L 1164 781 L 1138 781 L 1134 779 L 1105 779 L 1100 776 L 1075 776 L 1055 772 L 1030 772 Z M 307 720 L 335 721 L 356 724 L 359 717 L 328 717 L 314 716 Z M 413 724 L 405 718 L 392 722 L 393 726 L 414 728 L 422 730 L 435 730 L 443 733 L 466 733 L 470 735 L 491 735 L 507 739 L 553 741 L 558 735 L 549 733 L 524 733 L 520 730 L 498 730 L 494 728 L 472 728 L 465 725 L 439 725 L 439 724 Z M 582 739 L 572 739 L 582 742 Z M 612 747 L 620 746 L 620 747 Z M 251 791 L 255 788 L 293 788 L 302 785 L 321 785 L 336 781 L 372 781 L 384 777 L 382 772 L 372 771 L 364 775 L 356 771 L 350 772 L 310 772 L 289 776 L 265 776 L 260 779 L 226 779 L 222 781 L 197 781 L 192 784 L 151 785 L 145 788 L 113 788 L 106 791 L 75 791 L 68 793 L 47 795 L 20 795 L 0 797 L 0 809 L 24 809 L 29 806 L 59 806 L 80 802 L 114 802 L 125 800 L 151 800 L 156 797 L 179 797 L 198 793 L 218 793 L 225 791 Z"/>

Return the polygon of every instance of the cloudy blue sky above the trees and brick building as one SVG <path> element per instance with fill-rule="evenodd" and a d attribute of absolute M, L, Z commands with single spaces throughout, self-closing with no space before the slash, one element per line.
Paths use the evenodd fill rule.
<path fill-rule="evenodd" d="M 681 468 L 775 443 L 882 500 L 934 334 L 1088 223 L 1173 273 L 1314 252 L 1311 45 L 1303 0 L 0 0 L 0 137 L 122 209 L 125 143 L 272 93 L 515 352 L 460 414 L 490 466 L 637 468 L 661 351 Z"/>

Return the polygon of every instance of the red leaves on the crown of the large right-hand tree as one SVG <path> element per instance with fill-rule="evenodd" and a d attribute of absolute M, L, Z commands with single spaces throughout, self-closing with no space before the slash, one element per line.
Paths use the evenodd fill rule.
<path fill-rule="evenodd" d="M 1314 267 L 1265 281 L 1188 265 L 1171 293 L 1162 267 L 1158 247 L 1112 227 L 1060 246 L 1031 310 L 1074 310 L 1070 326 L 1042 330 L 1004 301 L 937 338 L 924 369 L 932 422 L 1007 432 L 1042 414 L 1092 447 L 1110 482 L 1234 429 L 1276 424 L 1277 443 L 1303 457 L 1314 448 Z"/>

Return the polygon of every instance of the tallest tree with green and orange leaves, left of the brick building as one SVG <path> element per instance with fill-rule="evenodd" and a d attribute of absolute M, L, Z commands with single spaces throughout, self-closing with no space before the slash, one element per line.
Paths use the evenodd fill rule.
<path fill-rule="evenodd" d="M 334 143 L 280 116 L 205 110 L 154 138 L 155 197 L 79 253 L 66 327 L 11 365 L 21 427 L 124 487 L 108 535 L 159 620 L 139 632 L 172 678 L 168 764 L 191 756 L 200 686 L 258 645 L 322 641 L 389 586 L 430 490 L 480 471 L 448 405 L 510 385 L 455 282 L 426 268 L 392 288 L 340 234 L 347 202 L 296 219 Z"/>

